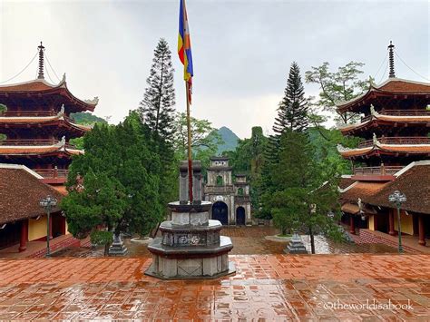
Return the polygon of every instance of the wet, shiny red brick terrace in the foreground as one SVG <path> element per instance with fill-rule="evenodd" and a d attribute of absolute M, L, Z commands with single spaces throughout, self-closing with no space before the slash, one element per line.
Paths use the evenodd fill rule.
<path fill-rule="evenodd" d="M 230 260 L 231 277 L 162 281 L 148 258 L 1 259 L 0 319 L 430 319 L 428 255 Z"/>

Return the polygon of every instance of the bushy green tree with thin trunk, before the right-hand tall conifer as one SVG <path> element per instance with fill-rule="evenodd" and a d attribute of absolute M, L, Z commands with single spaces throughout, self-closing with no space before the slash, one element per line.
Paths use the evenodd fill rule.
<path fill-rule="evenodd" d="M 316 233 L 340 238 L 336 174 L 322 171 L 327 164 L 314 158 L 307 133 L 283 132 L 279 144 L 279 163 L 270 168 L 272 189 L 265 191 L 263 207 L 282 233 L 307 231 L 315 253 Z M 329 211 L 336 213 L 335 218 L 327 216 Z"/>

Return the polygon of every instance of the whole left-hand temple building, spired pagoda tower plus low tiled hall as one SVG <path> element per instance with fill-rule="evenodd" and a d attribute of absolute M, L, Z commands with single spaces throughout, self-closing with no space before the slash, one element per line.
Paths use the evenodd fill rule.
<path fill-rule="evenodd" d="M 0 137 L 0 249 L 16 252 L 27 249 L 28 241 L 46 240 L 47 220 L 39 200 L 47 194 L 60 200 L 66 193 L 72 157 L 83 153 L 70 140 L 91 130 L 73 122 L 71 113 L 93 111 L 98 102 L 73 96 L 65 75 L 60 83 L 46 82 L 42 43 L 38 51 L 37 79 L 0 86 L 0 104 L 5 105 L 0 113 L 0 134 L 5 135 Z M 51 238 L 72 239 L 58 208 L 50 226 Z"/>

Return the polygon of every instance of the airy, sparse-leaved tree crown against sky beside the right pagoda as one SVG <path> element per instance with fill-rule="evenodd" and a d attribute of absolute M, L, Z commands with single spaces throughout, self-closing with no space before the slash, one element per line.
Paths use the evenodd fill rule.
<path fill-rule="evenodd" d="M 336 105 L 354 99 L 369 88 L 369 83 L 359 79 L 364 73 L 361 68 L 364 63 L 349 62 L 338 67 L 337 72 L 329 71 L 329 63 L 311 67 L 305 73 L 306 83 L 317 83 L 321 92 L 316 106 L 319 111 L 337 112 Z M 356 122 L 359 115 L 346 112 L 338 113 L 335 119 L 339 123 Z"/>

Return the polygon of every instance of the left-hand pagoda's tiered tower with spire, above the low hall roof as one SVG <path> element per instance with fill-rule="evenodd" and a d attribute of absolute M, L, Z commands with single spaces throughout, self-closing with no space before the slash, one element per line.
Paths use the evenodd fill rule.
<path fill-rule="evenodd" d="M 82 101 L 67 88 L 65 74 L 58 84 L 44 80 L 44 46 L 39 49 L 37 79 L 0 86 L 0 162 L 24 164 L 44 177 L 46 183 L 61 184 L 73 155 L 83 153 L 69 143 L 89 127 L 73 122 L 72 112 L 93 111 L 98 99 Z"/>

